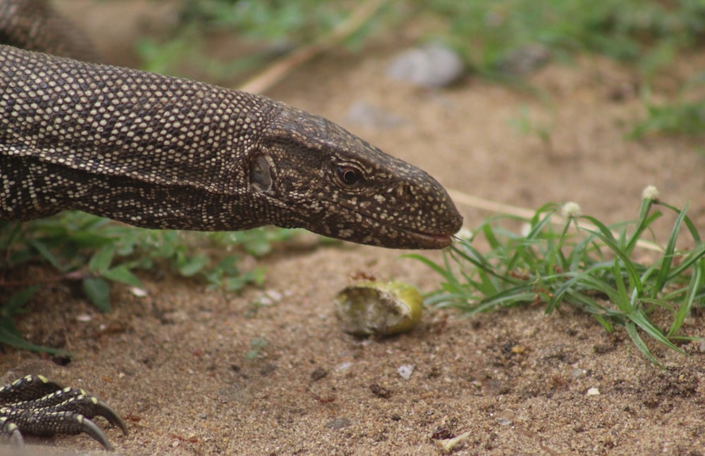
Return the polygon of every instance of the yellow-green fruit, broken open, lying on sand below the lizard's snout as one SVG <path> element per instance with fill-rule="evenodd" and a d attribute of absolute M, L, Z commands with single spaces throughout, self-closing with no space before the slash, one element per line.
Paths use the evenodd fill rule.
<path fill-rule="evenodd" d="M 400 334 L 419 324 L 423 305 L 421 294 L 409 284 L 360 281 L 338 293 L 336 316 L 349 334 Z"/>

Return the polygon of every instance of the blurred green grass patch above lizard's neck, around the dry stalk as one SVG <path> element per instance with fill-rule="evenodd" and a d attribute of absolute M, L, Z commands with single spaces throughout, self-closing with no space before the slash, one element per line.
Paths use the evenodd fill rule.
<path fill-rule="evenodd" d="M 178 8 L 168 39 L 140 39 L 137 52 L 145 70 L 188 75 L 187 68 L 194 67 L 209 80 L 230 83 L 286 53 L 329 37 L 359 7 L 349 1 L 186 0 Z M 371 16 L 340 44 L 360 49 L 376 25 L 388 17 Z M 212 44 L 207 38 L 223 32 L 254 46 L 243 50 L 235 61 L 219 61 L 209 52 Z"/>

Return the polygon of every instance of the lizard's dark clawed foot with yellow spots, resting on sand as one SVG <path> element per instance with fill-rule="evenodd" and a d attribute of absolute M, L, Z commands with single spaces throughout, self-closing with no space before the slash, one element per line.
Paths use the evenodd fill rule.
<path fill-rule="evenodd" d="M 22 446 L 22 434 L 53 436 L 85 432 L 106 450 L 113 446 L 94 417 L 104 417 L 128 433 L 123 419 L 99 398 L 80 388 L 63 388 L 41 375 L 27 375 L 0 388 L 0 438 Z"/>

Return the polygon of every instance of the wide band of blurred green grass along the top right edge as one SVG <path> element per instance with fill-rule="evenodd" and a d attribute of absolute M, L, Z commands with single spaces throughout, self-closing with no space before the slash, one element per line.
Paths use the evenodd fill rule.
<path fill-rule="evenodd" d="M 699 0 L 439 0 L 419 8 L 443 20 L 445 39 L 481 72 L 492 72 L 527 44 L 640 65 L 705 38 Z"/>

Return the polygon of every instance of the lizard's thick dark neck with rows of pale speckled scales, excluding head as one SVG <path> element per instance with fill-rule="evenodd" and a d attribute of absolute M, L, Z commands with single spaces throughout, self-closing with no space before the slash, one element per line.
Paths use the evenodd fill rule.
<path fill-rule="evenodd" d="M 0 47 L 0 218 L 78 208 L 153 228 L 246 227 L 233 220 L 252 217 L 233 207 L 247 199 L 243 160 L 276 103 L 37 57 Z"/>

